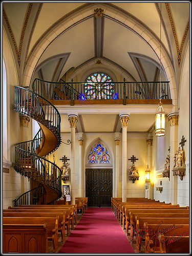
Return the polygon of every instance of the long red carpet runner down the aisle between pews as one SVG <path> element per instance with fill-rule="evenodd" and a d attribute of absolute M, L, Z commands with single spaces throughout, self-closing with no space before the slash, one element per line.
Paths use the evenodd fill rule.
<path fill-rule="evenodd" d="M 111 208 L 88 208 L 59 253 L 135 253 Z"/>

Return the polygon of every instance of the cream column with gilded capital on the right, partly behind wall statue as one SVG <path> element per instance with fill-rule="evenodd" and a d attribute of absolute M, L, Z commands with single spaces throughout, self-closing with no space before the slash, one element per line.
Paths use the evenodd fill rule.
<path fill-rule="evenodd" d="M 177 180 L 178 176 L 173 176 L 174 156 L 178 150 L 178 120 L 179 113 L 169 113 L 170 122 L 170 203 L 177 204 Z"/>

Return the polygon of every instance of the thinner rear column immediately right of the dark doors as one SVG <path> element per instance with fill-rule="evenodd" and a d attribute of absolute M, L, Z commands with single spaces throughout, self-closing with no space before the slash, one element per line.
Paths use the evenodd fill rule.
<path fill-rule="evenodd" d="M 119 141 L 115 138 L 115 197 L 119 197 Z"/>

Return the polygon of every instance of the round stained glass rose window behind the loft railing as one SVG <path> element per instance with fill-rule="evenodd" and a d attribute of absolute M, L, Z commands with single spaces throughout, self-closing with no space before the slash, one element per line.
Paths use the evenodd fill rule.
<path fill-rule="evenodd" d="M 114 94 L 112 78 L 97 72 L 87 77 L 84 83 L 84 96 L 87 99 L 111 99 Z"/>

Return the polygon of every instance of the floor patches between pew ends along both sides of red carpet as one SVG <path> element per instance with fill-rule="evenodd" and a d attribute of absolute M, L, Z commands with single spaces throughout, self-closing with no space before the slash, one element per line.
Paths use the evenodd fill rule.
<path fill-rule="evenodd" d="M 78 214 L 77 214 L 77 223 L 79 222 L 79 220 L 81 219 L 81 217 L 82 217 L 82 215 L 78 213 Z M 119 222 L 119 221 L 118 221 L 118 222 Z M 119 224 L 119 225 L 120 225 L 120 224 Z M 74 225 L 74 227 L 75 227 L 75 226 L 76 226 L 76 225 Z M 121 225 L 121 228 L 122 228 L 123 232 L 125 233 L 125 229 L 123 229 L 122 225 Z M 70 234 L 69 234 L 69 235 L 70 235 Z M 57 253 L 57 252 L 60 251 L 60 249 L 62 248 L 63 244 L 65 244 L 65 242 L 67 241 L 68 237 L 69 237 L 69 236 L 66 236 L 66 237 L 65 237 L 65 241 L 64 241 L 63 243 L 61 243 L 61 235 L 60 235 L 60 233 L 58 234 L 58 248 L 57 248 L 57 250 L 55 251 L 55 253 Z M 126 237 L 127 237 L 127 240 L 130 241 L 130 236 L 126 236 Z M 133 242 L 132 247 L 133 247 L 133 249 L 135 250 L 135 252 L 138 253 L 138 252 L 136 251 L 136 242 L 135 242 L 135 241 Z M 144 249 L 145 249 L 145 248 L 144 248 L 144 244 L 142 244 L 142 245 L 141 245 L 141 252 L 140 252 L 140 253 L 145 253 Z M 53 244 L 52 244 L 52 241 L 48 241 L 48 253 L 53 253 Z"/>

